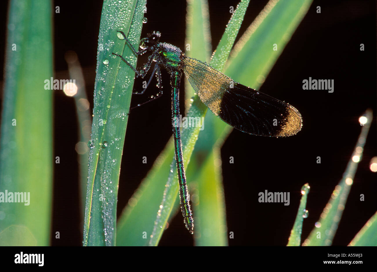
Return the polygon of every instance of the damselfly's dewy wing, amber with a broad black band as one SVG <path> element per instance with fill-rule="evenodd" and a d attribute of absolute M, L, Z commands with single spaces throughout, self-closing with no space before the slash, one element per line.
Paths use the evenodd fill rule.
<path fill-rule="evenodd" d="M 185 76 L 203 103 L 232 127 L 270 137 L 291 136 L 301 130 L 301 114 L 290 104 L 233 82 L 199 60 L 185 57 L 183 62 Z"/>

